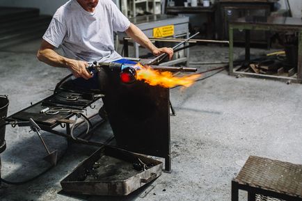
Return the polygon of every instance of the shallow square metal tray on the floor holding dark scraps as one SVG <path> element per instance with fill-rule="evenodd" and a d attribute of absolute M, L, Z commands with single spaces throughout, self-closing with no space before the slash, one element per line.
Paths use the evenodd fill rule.
<path fill-rule="evenodd" d="M 67 193 L 128 195 L 159 177 L 162 166 L 161 161 L 141 154 L 101 147 L 65 177 L 61 186 Z"/>

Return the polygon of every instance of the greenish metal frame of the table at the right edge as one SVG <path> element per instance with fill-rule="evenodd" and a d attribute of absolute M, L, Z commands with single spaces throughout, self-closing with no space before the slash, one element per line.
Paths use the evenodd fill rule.
<path fill-rule="evenodd" d="M 290 17 L 287 17 L 290 18 Z M 246 33 L 246 61 L 250 61 L 250 43 L 251 43 L 251 30 L 262 30 L 262 31 L 296 31 L 299 33 L 299 44 L 298 44 L 298 67 L 296 77 L 283 77 L 276 75 L 267 75 L 267 74 L 255 74 L 249 72 L 239 72 L 234 68 L 234 57 L 233 57 L 233 47 L 234 47 L 234 38 L 233 32 L 234 29 L 244 30 Z M 267 78 L 267 79 L 280 79 L 286 81 L 293 81 L 296 83 L 302 82 L 302 26 L 298 25 L 282 25 L 282 24 L 253 24 L 248 22 L 231 22 L 229 26 L 229 74 L 230 75 L 245 75 L 250 77 L 259 77 L 259 78 Z"/>

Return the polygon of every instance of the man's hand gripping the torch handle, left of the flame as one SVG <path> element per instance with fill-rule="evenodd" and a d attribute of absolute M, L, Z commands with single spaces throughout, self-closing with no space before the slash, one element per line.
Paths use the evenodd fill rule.
<path fill-rule="evenodd" d="M 74 77 L 83 77 L 84 79 L 90 79 L 93 77 L 93 75 L 86 70 L 86 67 L 88 67 L 88 63 L 86 61 L 77 61 L 72 59 L 69 61 L 67 66 L 72 71 Z"/>

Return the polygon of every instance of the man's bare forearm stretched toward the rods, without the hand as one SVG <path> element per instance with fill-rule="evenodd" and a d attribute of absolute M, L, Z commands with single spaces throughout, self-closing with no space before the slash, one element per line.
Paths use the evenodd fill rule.
<path fill-rule="evenodd" d="M 149 49 L 151 52 L 154 51 L 157 47 L 155 47 L 152 42 L 149 40 L 149 38 L 141 31 L 141 29 L 138 29 L 137 26 L 134 24 L 130 24 L 129 28 L 126 31 L 127 35 L 131 37 L 135 42 L 137 42 L 139 45 Z"/>

